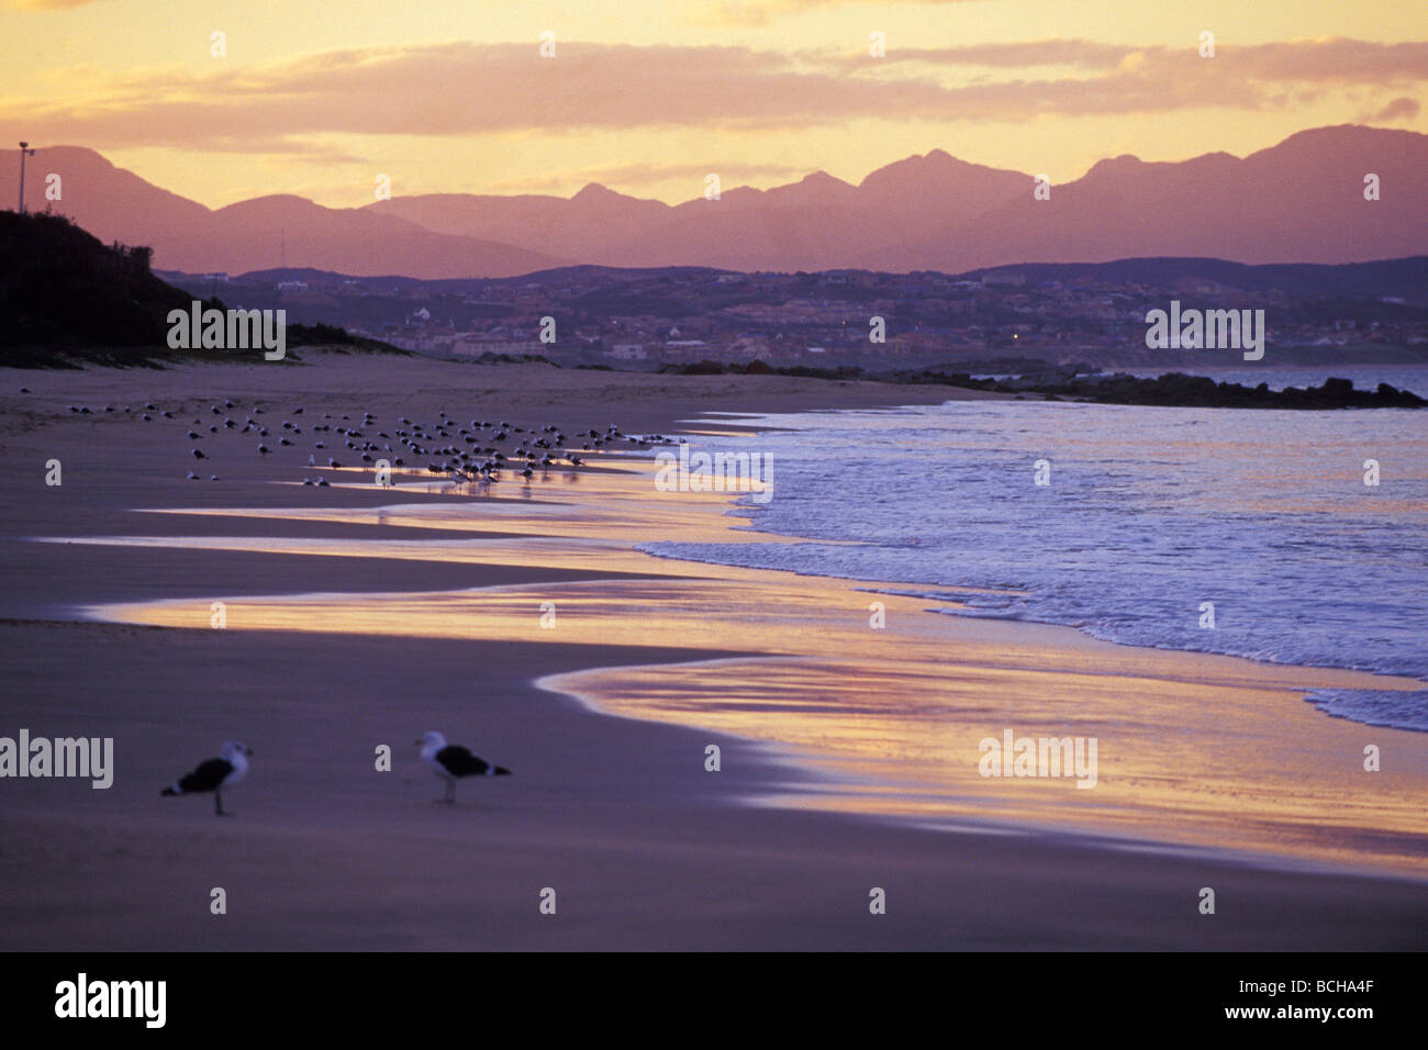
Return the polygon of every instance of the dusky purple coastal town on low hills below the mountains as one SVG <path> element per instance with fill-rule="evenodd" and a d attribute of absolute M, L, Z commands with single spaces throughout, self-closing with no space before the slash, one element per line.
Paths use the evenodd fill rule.
<path fill-rule="evenodd" d="M 1135 261 L 1145 263 L 1144 273 L 1128 273 Z M 1404 260 L 1404 287 L 1391 276 L 1365 290 L 1342 287 L 1351 277 L 1339 280 L 1337 271 L 1348 267 L 1319 267 L 1317 284 L 1307 284 L 1294 274 L 1275 281 L 1274 274 L 1251 273 L 1254 280 L 1244 280 L 1238 271 L 1275 267 L 1217 260 L 1001 267 L 961 276 L 594 266 L 503 280 L 354 279 L 313 270 L 163 276 L 228 306 L 284 307 L 293 321 L 338 324 L 431 357 L 541 357 L 564 367 L 640 371 L 700 361 L 1158 364 L 1175 354 L 1147 346 L 1147 313 L 1172 300 L 1262 310 L 1267 343 L 1278 351 L 1425 360 L 1428 303 L 1421 284 L 1415 296 L 1412 261 Z M 1231 273 L 1217 280 L 1217 267 Z"/>

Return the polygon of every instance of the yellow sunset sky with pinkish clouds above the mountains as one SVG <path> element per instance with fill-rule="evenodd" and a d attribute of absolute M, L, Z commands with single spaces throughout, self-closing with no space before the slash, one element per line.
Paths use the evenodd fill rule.
<path fill-rule="evenodd" d="M 0 143 L 89 146 L 210 207 L 360 207 L 381 176 L 678 203 L 934 149 L 1062 183 L 1428 131 L 1425 81 L 1422 0 L 0 0 Z"/>

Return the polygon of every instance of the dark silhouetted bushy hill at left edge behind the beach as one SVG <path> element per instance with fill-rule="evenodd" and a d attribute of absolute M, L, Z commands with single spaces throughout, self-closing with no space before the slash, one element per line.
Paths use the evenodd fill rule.
<path fill-rule="evenodd" d="M 213 351 L 169 349 L 169 311 L 188 310 L 194 296 L 157 277 L 150 256 L 149 247 L 104 244 L 60 216 L 0 211 L 0 366 L 213 360 Z M 401 353 L 337 327 L 288 324 L 287 347 L 300 346 Z"/>

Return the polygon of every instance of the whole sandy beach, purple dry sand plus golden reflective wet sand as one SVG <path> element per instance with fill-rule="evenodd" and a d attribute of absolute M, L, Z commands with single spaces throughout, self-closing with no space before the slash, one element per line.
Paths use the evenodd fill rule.
<path fill-rule="evenodd" d="M 306 357 L 7 374 L 0 734 L 113 737 L 116 776 L 0 784 L 4 947 L 1422 947 L 1428 737 L 1302 701 L 1369 676 L 654 559 L 634 546 L 740 520 L 725 493 L 657 491 L 648 453 L 478 496 L 356 469 L 304 487 L 306 446 L 260 457 L 217 436 L 186 480 L 184 433 L 226 397 L 270 420 L 301 406 L 710 436 L 738 419 L 701 413 L 990 394 Z M 174 419 L 139 420 L 149 401 Z M 880 706 L 927 690 L 947 696 L 945 736 L 900 737 Z M 988 726 L 1067 724 L 1104 741 L 1097 790 L 977 774 Z M 433 804 L 413 744 L 428 729 L 514 776 Z M 159 797 L 226 739 L 256 753 L 236 817 Z M 1389 756 L 1371 784 L 1365 741 Z M 965 790 L 927 789 L 940 763 Z"/>

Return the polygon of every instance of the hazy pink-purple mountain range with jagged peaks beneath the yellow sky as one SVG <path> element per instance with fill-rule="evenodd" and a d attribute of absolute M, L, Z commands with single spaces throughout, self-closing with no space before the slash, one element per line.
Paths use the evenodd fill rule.
<path fill-rule="evenodd" d="M 19 156 L 0 154 L 0 207 Z M 50 174 L 61 199 L 46 200 Z M 1365 177 L 1378 200 L 1365 199 Z M 280 264 L 354 276 L 510 277 L 567 264 L 730 270 L 958 273 L 1011 263 L 1205 256 L 1240 263 L 1352 263 L 1428 251 L 1428 136 L 1344 124 L 1247 157 L 1102 160 L 1034 194 L 1032 174 L 907 157 L 857 186 L 815 171 L 768 190 L 683 204 L 598 184 L 573 197 L 396 196 L 330 209 L 278 194 L 221 209 L 170 193 L 84 147 L 41 149 L 26 204 L 49 204 L 104 240 L 147 244 L 166 270 Z"/>

